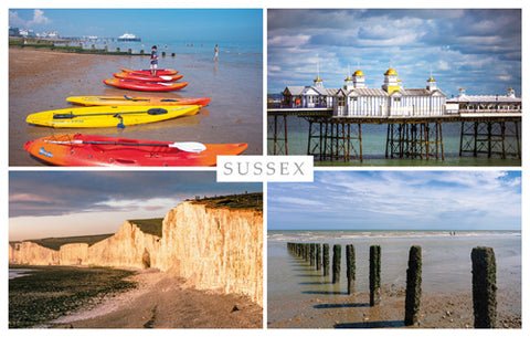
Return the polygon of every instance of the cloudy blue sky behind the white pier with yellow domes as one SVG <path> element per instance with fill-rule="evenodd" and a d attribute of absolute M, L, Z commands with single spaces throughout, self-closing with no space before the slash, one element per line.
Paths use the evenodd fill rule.
<path fill-rule="evenodd" d="M 431 74 L 448 97 L 521 95 L 521 10 L 518 9 L 277 9 L 267 12 L 268 87 L 341 87 L 360 69 L 381 87 L 392 66 L 405 87 L 425 87 Z M 349 69 L 349 71 L 348 71 Z"/>

